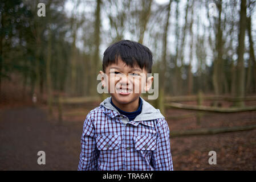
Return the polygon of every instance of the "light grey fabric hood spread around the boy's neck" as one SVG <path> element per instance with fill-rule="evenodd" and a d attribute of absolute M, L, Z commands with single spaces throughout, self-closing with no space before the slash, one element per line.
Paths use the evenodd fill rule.
<path fill-rule="evenodd" d="M 147 101 L 145 101 L 142 97 L 140 97 L 142 100 L 142 109 L 141 113 L 137 115 L 137 117 L 133 121 L 148 121 L 153 119 L 159 119 L 164 118 L 164 116 L 160 113 L 159 109 L 156 109 L 151 104 L 149 104 Z M 104 106 L 106 109 L 114 110 L 117 113 L 119 111 L 112 106 L 110 102 L 111 97 L 106 98 L 104 101 L 100 103 L 100 106 Z"/>

